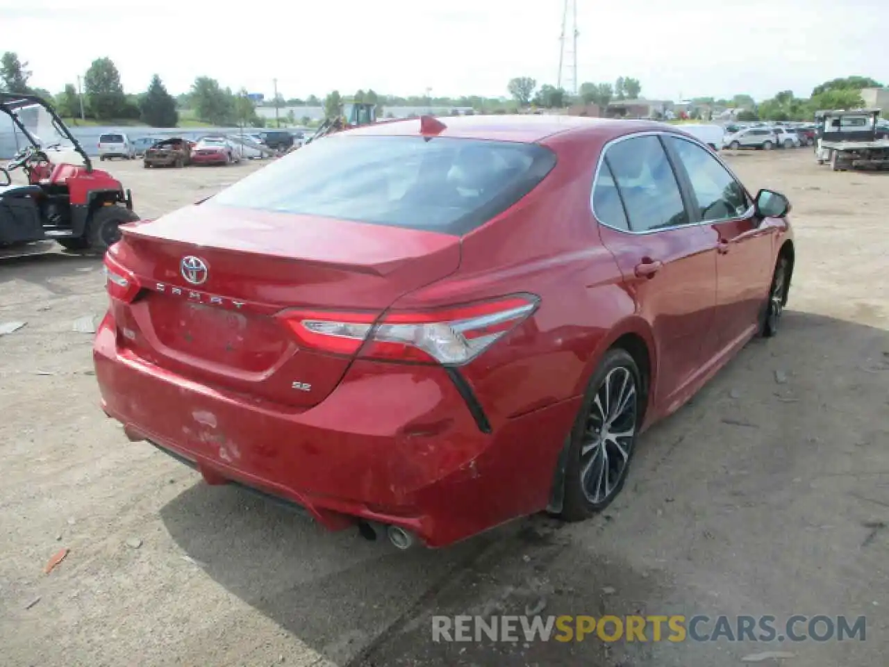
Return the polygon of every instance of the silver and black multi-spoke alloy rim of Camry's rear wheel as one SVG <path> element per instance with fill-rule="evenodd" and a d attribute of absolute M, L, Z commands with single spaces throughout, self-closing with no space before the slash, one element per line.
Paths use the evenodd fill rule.
<path fill-rule="evenodd" d="M 581 488 L 601 505 L 621 488 L 636 440 L 638 390 L 627 366 L 613 368 L 599 385 L 589 408 L 581 442 Z"/>

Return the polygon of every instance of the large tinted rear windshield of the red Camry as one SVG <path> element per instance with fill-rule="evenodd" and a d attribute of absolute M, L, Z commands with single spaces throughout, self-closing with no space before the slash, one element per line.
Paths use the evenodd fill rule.
<path fill-rule="evenodd" d="M 536 144 L 340 134 L 207 203 L 461 235 L 515 204 L 555 164 Z"/>

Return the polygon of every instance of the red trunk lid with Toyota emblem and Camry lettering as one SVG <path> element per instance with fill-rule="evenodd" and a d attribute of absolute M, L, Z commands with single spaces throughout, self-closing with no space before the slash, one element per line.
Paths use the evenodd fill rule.
<path fill-rule="evenodd" d="M 125 347 L 181 376 L 305 407 L 351 359 L 301 349 L 276 314 L 378 315 L 460 263 L 459 237 L 206 204 L 124 229 L 115 250 L 142 286 L 116 306 Z"/>

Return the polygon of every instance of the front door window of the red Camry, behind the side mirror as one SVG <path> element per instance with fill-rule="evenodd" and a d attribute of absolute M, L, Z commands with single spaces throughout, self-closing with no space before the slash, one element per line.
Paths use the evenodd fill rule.
<path fill-rule="evenodd" d="M 747 193 L 716 157 L 691 141 L 677 137 L 669 137 L 667 141 L 676 149 L 679 161 L 692 181 L 702 221 L 733 220 L 747 213 Z"/>

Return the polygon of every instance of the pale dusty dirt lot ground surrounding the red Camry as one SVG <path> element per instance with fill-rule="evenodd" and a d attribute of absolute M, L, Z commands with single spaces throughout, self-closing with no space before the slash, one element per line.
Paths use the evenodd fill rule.
<path fill-rule="evenodd" d="M 777 339 L 643 438 L 594 520 L 529 518 L 398 553 L 131 444 L 97 407 L 100 264 L 0 261 L 0 663 L 18 665 L 885 666 L 889 652 L 889 178 L 810 150 L 729 157 L 794 204 Z M 151 217 L 256 165 L 110 170 Z M 68 558 L 49 575 L 61 548 Z M 864 642 L 434 644 L 433 613 L 866 615 Z M 771 661 L 762 663 L 774 664 Z"/>

